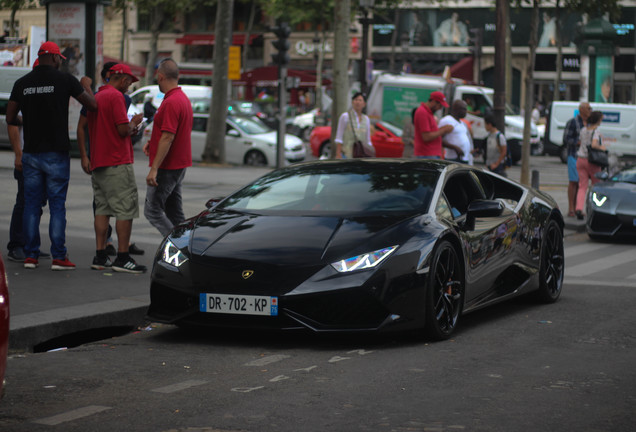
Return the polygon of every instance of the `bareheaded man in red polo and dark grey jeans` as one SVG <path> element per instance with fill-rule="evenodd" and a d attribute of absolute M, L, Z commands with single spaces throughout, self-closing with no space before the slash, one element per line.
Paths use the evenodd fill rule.
<path fill-rule="evenodd" d="M 150 141 L 144 146 L 150 158 L 144 216 L 166 236 L 185 220 L 181 183 L 186 168 L 192 166 L 192 104 L 179 87 L 179 67 L 174 60 L 163 60 L 156 78 L 165 96 L 153 119 Z"/>

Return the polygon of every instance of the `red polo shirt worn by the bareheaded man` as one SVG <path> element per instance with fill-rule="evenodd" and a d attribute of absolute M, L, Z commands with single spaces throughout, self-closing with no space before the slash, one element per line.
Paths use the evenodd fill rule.
<path fill-rule="evenodd" d="M 174 134 L 174 140 L 164 158 L 161 169 L 181 169 L 192 166 L 192 104 L 181 87 L 170 90 L 163 98 L 153 119 L 152 135 L 148 142 L 150 166 L 157 155 L 162 132 Z"/>

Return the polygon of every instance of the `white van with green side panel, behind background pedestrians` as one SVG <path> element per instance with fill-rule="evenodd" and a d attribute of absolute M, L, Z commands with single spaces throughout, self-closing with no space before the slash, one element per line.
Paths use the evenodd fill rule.
<path fill-rule="evenodd" d="M 473 109 L 479 110 L 479 114 L 468 113 L 466 119 L 472 124 L 475 146 L 483 146 L 488 136 L 484 115 L 492 111 L 494 94 L 494 90 L 487 87 L 463 84 L 463 81 L 457 79 L 447 81 L 439 76 L 381 73 L 376 76 L 371 87 L 367 114 L 372 120 L 383 120 L 402 129 L 413 108 L 428 101 L 434 91 L 443 92 L 449 101 L 471 100 Z M 505 122 L 512 159 L 517 162 L 521 159 L 524 120 L 508 111 Z M 534 123 L 530 127 L 530 145 L 533 153 L 538 151 L 539 131 Z"/>

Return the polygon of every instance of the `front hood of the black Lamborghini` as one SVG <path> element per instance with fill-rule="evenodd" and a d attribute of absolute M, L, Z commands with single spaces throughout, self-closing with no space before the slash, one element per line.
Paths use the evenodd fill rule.
<path fill-rule="evenodd" d="M 212 211 L 196 222 L 191 253 L 285 266 L 324 265 L 395 245 L 400 236 L 389 237 L 387 231 L 394 231 L 391 228 L 401 219 L 255 216 Z"/>

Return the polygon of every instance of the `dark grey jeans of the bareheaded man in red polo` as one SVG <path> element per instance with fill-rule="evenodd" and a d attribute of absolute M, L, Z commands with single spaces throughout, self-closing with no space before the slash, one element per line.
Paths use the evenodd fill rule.
<path fill-rule="evenodd" d="M 148 186 L 146 190 L 144 216 L 164 237 L 170 234 L 175 225 L 185 220 L 181 201 L 181 182 L 185 171 L 185 168 L 159 169 L 157 186 Z"/>

